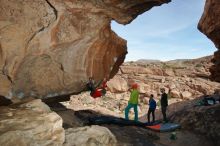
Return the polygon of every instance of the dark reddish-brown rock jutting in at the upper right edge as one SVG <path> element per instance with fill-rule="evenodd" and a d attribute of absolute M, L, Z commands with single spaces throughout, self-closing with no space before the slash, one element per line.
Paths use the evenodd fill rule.
<path fill-rule="evenodd" d="M 213 63 L 211 67 L 211 78 L 220 82 L 220 1 L 206 0 L 205 10 L 200 19 L 198 28 L 208 38 L 210 38 L 218 51 L 214 54 Z"/>

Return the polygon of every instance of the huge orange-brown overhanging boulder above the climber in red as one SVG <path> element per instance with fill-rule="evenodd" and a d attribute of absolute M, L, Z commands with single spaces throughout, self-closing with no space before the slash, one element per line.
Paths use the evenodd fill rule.
<path fill-rule="evenodd" d="M 0 95 L 46 98 L 113 77 L 127 50 L 111 20 L 128 24 L 169 1 L 1 0 Z"/>

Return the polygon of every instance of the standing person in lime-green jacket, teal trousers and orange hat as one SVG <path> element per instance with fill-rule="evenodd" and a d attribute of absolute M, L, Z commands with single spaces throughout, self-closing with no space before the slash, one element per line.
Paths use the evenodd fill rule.
<path fill-rule="evenodd" d="M 128 101 L 128 106 L 125 108 L 125 119 L 129 120 L 128 118 L 128 113 L 131 108 L 134 108 L 134 120 L 137 122 L 138 121 L 138 97 L 139 97 L 139 91 L 137 90 L 138 85 L 133 84 L 132 88 L 129 89 L 131 91 L 130 99 Z"/>

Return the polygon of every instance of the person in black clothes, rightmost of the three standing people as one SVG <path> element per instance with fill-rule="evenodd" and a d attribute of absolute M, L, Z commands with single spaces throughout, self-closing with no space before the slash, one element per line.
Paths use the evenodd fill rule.
<path fill-rule="evenodd" d="M 163 121 L 167 122 L 167 116 L 166 116 L 166 110 L 167 110 L 167 106 L 168 106 L 167 94 L 165 93 L 164 88 L 160 89 L 160 91 L 162 93 L 161 99 L 160 99 L 160 104 L 161 104 L 161 110 L 162 110 L 162 114 L 163 114 Z"/>

